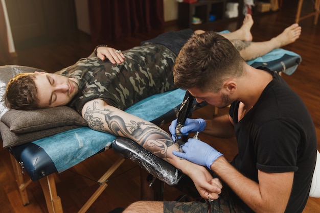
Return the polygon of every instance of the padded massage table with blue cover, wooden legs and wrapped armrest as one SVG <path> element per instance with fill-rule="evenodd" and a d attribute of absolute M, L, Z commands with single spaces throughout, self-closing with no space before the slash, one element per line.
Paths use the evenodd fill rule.
<path fill-rule="evenodd" d="M 267 66 L 279 73 L 291 75 L 300 62 L 301 57 L 298 54 L 277 49 L 247 63 L 254 67 Z M 12 71 L 13 77 L 17 73 L 28 72 L 30 67 L 2 66 L 0 67 L 0 80 L 3 78 L 3 71 L 8 69 L 10 69 L 10 72 Z M 34 70 L 33 68 L 31 69 Z M 7 83 L 8 82 L 2 82 L 0 87 L 6 86 Z M 129 107 L 126 112 L 139 116 L 158 126 L 162 126 L 176 118 L 185 93 L 186 91 L 182 89 L 176 89 L 155 94 Z M 203 105 L 204 104 L 194 103 L 192 110 L 196 110 Z M 5 113 L 8 113 L 8 111 L 0 108 L 0 114 L 3 116 Z M 3 122 L 0 122 L 0 124 L 2 139 L 5 141 L 5 139 L 8 138 L 4 138 L 3 126 L 6 125 L 4 125 Z M 40 181 L 48 211 L 50 213 L 63 212 L 53 175 L 70 169 L 85 159 L 111 148 L 122 158 L 113 163 L 97 181 L 99 188 L 92 197 L 88 199 L 79 212 L 85 212 L 93 204 L 107 187 L 106 182 L 110 175 L 119 168 L 126 158 L 138 163 L 140 167 L 144 168 L 155 178 L 169 185 L 178 184 L 180 178 L 183 176 L 183 174 L 171 164 L 154 156 L 134 141 L 128 138 L 98 132 L 84 126 L 36 139 L 21 145 L 7 147 L 11 153 L 10 156 L 22 203 L 24 205 L 29 203 L 26 191 L 28 184 L 32 181 Z M 26 172 L 30 176 L 30 179 L 24 180 L 21 172 Z"/>

